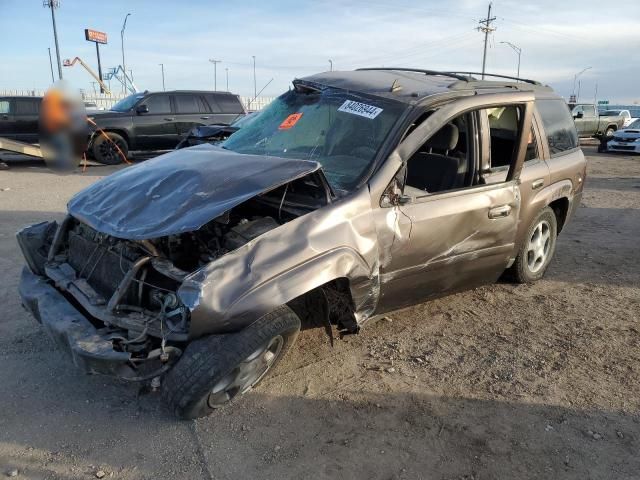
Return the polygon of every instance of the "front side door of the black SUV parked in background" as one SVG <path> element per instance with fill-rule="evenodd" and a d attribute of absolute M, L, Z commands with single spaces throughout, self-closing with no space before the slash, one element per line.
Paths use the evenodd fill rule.
<path fill-rule="evenodd" d="M 144 111 L 145 106 L 148 111 Z M 176 117 L 169 94 L 154 93 L 145 97 L 136 106 L 132 121 L 136 148 L 164 150 L 178 144 Z"/>

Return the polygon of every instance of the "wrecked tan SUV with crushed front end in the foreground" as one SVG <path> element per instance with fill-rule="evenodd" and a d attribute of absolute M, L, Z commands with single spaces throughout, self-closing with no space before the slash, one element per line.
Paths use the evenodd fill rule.
<path fill-rule="evenodd" d="M 563 100 L 533 81 L 410 69 L 293 82 L 219 145 L 177 150 L 18 233 L 24 306 L 89 373 L 207 415 L 256 385 L 301 323 L 541 278 L 580 203 Z"/>

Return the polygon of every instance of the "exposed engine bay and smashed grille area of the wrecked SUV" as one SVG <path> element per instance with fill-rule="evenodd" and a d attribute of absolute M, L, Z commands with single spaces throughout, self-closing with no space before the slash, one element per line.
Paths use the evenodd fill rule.
<path fill-rule="evenodd" d="M 166 364 L 190 339 L 190 311 L 178 294 L 184 279 L 328 201 L 324 185 L 303 177 L 241 203 L 195 231 L 127 240 L 68 216 L 57 229 L 49 224 L 46 235 L 42 233 L 48 239 L 40 250 L 48 251 L 35 259 L 33 251 L 23 250 L 28 261 L 32 257 L 32 270 L 52 280 L 116 352 L 129 354 L 130 362 L 159 359 Z M 38 263 L 41 267 L 33 266 Z"/>

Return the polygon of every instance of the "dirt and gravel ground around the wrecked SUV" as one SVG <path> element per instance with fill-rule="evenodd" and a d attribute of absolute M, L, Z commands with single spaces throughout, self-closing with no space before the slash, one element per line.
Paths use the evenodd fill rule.
<path fill-rule="evenodd" d="M 307 330 L 230 408 L 181 422 L 84 376 L 21 308 L 14 234 L 80 188 L 0 171 L 0 473 L 29 479 L 640 478 L 640 157 L 585 147 L 582 208 L 536 285 L 408 308 L 338 340 Z"/>

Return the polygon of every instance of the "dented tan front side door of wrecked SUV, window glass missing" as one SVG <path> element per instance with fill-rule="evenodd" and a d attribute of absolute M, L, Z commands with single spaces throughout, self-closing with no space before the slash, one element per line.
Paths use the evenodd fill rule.
<path fill-rule="evenodd" d="M 382 252 L 376 313 L 492 283 L 514 254 L 520 210 L 518 175 L 527 142 L 522 132 L 531 129 L 533 97 L 524 93 L 482 97 L 486 98 L 466 98 L 436 110 L 396 150 L 403 161 L 395 178 L 398 184 L 394 187 L 392 182 L 391 191 L 381 200 L 382 208 L 375 211 Z M 518 109 L 519 133 L 513 139 L 506 178 L 487 182 L 481 165 L 483 157 L 490 155 L 491 137 L 482 130 L 480 118 L 483 109 L 496 107 Z M 441 142 L 441 132 L 450 132 L 461 115 L 469 119 L 464 159 L 459 158 L 461 138 Z M 433 138 L 439 140 L 430 142 Z M 425 145 L 431 149 L 426 155 L 420 153 Z M 438 146 L 451 148 L 446 154 L 433 153 Z M 451 158 L 467 165 L 457 183 L 429 179 L 425 185 L 437 191 L 420 191 L 410 184 L 419 184 L 412 168 L 437 176 L 444 171 L 440 165 L 451 163 Z M 432 162 L 434 168 L 422 161 Z M 394 188 L 402 193 L 394 196 Z"/>

